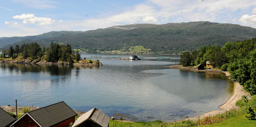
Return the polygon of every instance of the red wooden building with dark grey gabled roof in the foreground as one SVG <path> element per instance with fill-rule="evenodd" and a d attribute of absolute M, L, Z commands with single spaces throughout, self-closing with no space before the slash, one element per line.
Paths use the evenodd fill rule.
<path fill-rule="evenodd" d="M 77 113 L 62 101 L 27 112 L 10 127 L 68 127 L 75 116 Z"/>

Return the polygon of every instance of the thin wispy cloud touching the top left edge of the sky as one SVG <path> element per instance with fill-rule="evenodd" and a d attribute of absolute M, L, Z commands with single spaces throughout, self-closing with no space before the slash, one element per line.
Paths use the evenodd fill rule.
<path fill-rule="evenodd" d="M 47 9 L 47 8 L 56 8 L 54 4 L 57 2 L 50 0 L 12 0 L 13 2 L 22 3 L 32 8 L 38 9 Z"/>

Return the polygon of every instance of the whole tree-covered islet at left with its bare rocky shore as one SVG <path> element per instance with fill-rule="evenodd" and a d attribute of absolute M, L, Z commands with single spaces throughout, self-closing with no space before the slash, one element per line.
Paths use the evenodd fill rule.
<path fill-rule="evenodd" d="M 2 50 L 0 62 L 35 63 L 35 64 L 65 64 L 65 65 L 102 65 L 99 60 L 82 59 L 78 50 L 72 50 L 71 45 L 51 43 L 50 47 L 39 46 L 37 42 L 10 46 Z"/>

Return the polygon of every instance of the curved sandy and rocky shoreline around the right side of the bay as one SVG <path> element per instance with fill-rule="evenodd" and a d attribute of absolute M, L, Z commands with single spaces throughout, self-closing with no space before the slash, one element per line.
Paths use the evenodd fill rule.
<path fill-rule="evenodd" d="M 225 73 L 226 77 L 230 79 L 230 74 L 227 71 L 215 71 L 215 70 L 212 70 L 212 69 L 211 69 L 212 71 L 208 71 L 210 69 L 195 70 L 194 68 L 183 67 L 183 66 L 180 66 L 180 65 L 170 66 L 169 68 L 188 70 L 188 71 L 199 71 L 199 72 L 217 72 L 217 73 L 219 72 L 219 73 Z M 226 111 L 229 111 L 230 109 L 234 109 L 234 108 L 237 107 L 236 106 L 236 101 L 240 100 L 242 98 L 242 96 L 245 95 L 245 91 L 242 91 L 243 86 L 240 85 L 238 82 L 234 82 L 234 81 L 232 81 L 232 82 L 234 83 L 234 90 L 233 90 L 234 93 L 224 104 L 222 104 L 222 105 L 220 105 L 218 107 L 221 110 L 213 110 L 213 111 L 210 111 L 210 112 L 203 113 L 203 114 L 199 115 L 200 119 L 208 117 L 209 115 L 210 116 L 216 116 L 219 113 L 221 114 L 221 113 L 224 113 Z M 188 120 L 188 119 L 189 120 L 193 120 L 193 121 L 197 121 L 198 120 L 198 116 L 194 116 L 194 117 L 190 117 L 190 118 L 185 118 L 185 119 L 182 119 L 182 120 L 177 120 L 176 122 L 182 122 L 183 120 Z M 173 123 L 173 122 L 174 121 L 170 121 L 170 122 L 167 122 L 167 123 Z"/>

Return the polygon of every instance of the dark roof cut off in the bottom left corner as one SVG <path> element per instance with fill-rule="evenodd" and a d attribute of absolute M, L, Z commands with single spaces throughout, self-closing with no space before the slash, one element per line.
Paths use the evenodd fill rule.
<path fill-rule="evenodd" d="M 0 108 L 0 127 L 5 127 L 15 120 L 9 113 Z"/>

